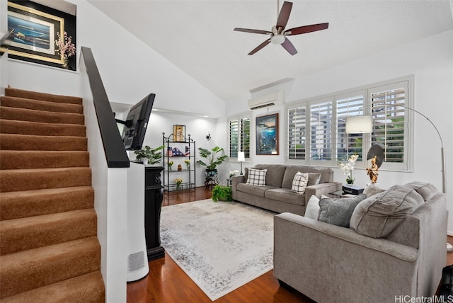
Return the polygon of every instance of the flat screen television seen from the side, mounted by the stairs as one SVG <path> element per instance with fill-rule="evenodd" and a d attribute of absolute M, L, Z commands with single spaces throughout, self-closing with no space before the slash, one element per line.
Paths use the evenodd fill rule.
<path fill-rule="evenodd" d="M 144 97 L 142 101 L 139 101 L 139 103 L 130 108 L 125 121 L 116 120 L 116 122 L 125 125 L 121 134 L 125 149 L 142 149 L 144 135 L 147 132 L 149 115 L 151 115 L 154 104 L 154 98 L 156 98 L 156 95 L 150 93 L 148 96 Z"/>

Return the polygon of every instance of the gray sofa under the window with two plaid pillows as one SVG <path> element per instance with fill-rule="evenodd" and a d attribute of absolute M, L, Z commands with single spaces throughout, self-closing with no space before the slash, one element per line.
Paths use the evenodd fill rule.
<path fill-rule="evenodd" d="M 286 166 L 280 164 L 258 164 L 254 168 L 267 169 L 265 185 L 246 184 L 248 168 L 243 176 L 231 178 L 233 200 L 271 210 L 273 212 L 292 212 L 304 215 L 306 202 L 311 195 L 320 198 L 321 195 L 333 193 L 341 189 L 341 183 L 333 182 L 331 168 L 314 166 Z M 305 193 L 294 193 L 292 181 L 296 173 L 309 173 L 309 183 Z"/>

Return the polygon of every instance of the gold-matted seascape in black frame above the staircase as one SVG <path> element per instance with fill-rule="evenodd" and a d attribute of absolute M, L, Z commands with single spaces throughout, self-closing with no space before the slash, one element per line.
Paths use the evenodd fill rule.
<path fill-rule="evenodd" d="M 8 30 L 14 30 L 9 58 L 76 69 L 75 53 L 62 54 L 56 43 L 62 40 L 75 52 L 76 16 L 33 1 L 8 1 Z"/>

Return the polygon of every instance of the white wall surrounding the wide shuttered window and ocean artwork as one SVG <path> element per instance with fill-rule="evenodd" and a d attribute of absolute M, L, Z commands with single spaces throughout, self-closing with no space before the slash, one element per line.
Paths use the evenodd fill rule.
<path fill-rule="evenodd" d="M 453 130 L 453 30 L 434 35 L 423 40 L 411 42 L 391 50 L 379 52 L 376 55 L 355 62 L 333 67 L 323 72 L 311 74 L 304 78 L 294 79 L 293 83 L 276 86 L 274 90 L 284 89 L 286 103 L 301 101 L 306 98 L 323 96 L 328 93 L 344 91 L 346 89 L 365 86 L 396 79 L 402 76 L 414 75 L 414 109 L 427 115 L 439 129 L 446 156 L 453 150 L 451 130 Z M 235 115 L 246 108 L 247 99 L 243 96 L 228 103 L 227 115 Z M 237 110 L 236 110 L 237 109 Z M 236 110 L 236 112 L 234 111 Z M 285 107 L 270 108 L 269 113 L 280 113 L 280 138 L 285 137 Z M 256 110 L 252 113 L 252 130 L 257 115 L 263 115 L 266 110 Z M 440 139 L 430 122 L 422 116 L 414 114 L 414 165 L 412 172 L 386 171 L 385 164 L 379 169 L 379 185 L 388 188 L 394 184 L 404 184 L 411 181 L 425 181 L 433 183 L 442 191 L 442 175 L 440 173 Z M 217 120 L 217 133 L 227 134 L 226 118 Z M 222 137 L 222 136 L 219 136 Z M 225 139 L 219 142 L 227 146 Z M 255 135 L 252 132 L 252 142 Z M 253 156 L 253 166 L 259 163 L 283 163 L 285 161 L 286 142 L 280 140 L 280 156 Z M 453 193 L 451 172 L 453 161 L 447 163 L 447 200 L 449 212 L 453 212 Z M 333 167 L 335 181 L 344 182 L 345 176 L 338 167 Z M 448 181 L 450 182 L 448 183 Z M 365 170 L 355 171 L 357 185 L 365 187 L 369 178 Z M 453 234 L 453 217 L 449 216 L 449 232 Z"/>

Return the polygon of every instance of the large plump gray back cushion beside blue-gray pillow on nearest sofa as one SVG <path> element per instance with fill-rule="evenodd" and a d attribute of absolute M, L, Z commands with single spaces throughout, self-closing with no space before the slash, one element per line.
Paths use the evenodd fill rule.
<path fill-rule="evenodd" d="M 350 228 L 358 234 L 385 238 L 424 202 L 411 186 L 394 185 L 355 207 Z"/>

